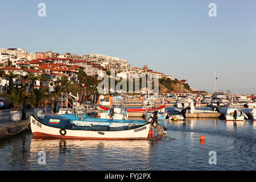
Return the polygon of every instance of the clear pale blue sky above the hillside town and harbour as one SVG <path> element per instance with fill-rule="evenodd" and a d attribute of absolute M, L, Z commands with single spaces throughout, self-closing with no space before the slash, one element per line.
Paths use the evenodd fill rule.
<path fill-rule="evenodd" d="M 119 57 L 207 92 L 216 69 L 217 90 L 256 93 L 254 0 L 2 1 L 0 22 L 0 48 Z"/>

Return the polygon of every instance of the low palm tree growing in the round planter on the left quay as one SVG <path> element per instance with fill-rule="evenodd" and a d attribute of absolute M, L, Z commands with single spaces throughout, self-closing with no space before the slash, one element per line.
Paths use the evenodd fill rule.
<path fill-rule="evenodd" d="M 8 94 L 9 100 L 13 101 L 13 110 L 18 111 L 18 105 L 25 99 L 24 89 L 12 89 Z"/>

